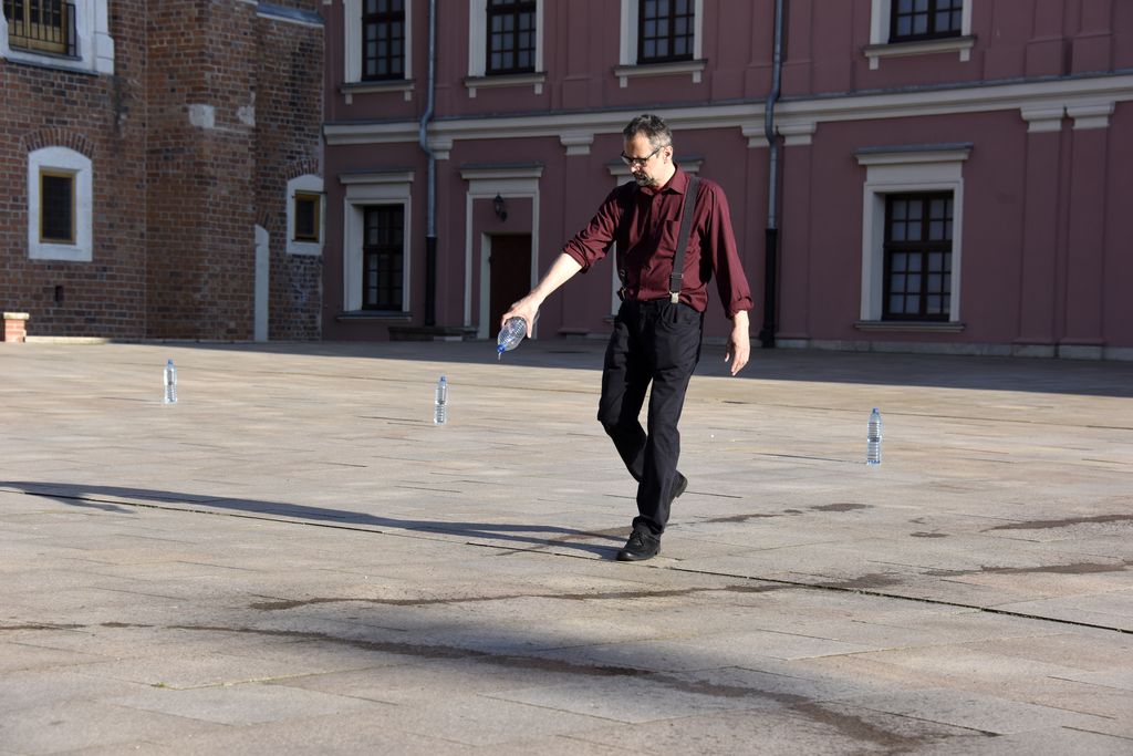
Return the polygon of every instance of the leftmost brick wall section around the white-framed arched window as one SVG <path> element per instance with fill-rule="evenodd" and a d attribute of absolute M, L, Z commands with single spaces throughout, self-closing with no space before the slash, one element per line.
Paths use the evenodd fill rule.
<path fill-rule="evenodd" d="M 29 313 L 29 335 L 144 334 L 144 5 L 112 3 L 114 76 L 0 61 L 0 307 Z M 44 146 L 92 161 L 91 262 L 28 258 L 27 159 Z"/>

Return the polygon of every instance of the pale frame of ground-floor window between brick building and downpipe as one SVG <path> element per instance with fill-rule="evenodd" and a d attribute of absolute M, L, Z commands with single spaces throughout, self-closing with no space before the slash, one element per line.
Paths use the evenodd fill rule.
<path fill-rule="evenodd" d="M 365 212 L 369 205 L 401 205 L 404 213 L 401 265 L 401 312 L 412 312 L 412 289 L 409 286 L 412 257 L 412 171 L 390 173 L 347 173 L 339 177 L 346 185 L 342 229 L 342 309 L 348 313 L 370 313 L 361 308 L 361 260 L 365 235 Z M 378 313 L 374 313 L 378 314 Z M 393 313 L 391 313 L 393 314 Z"/>

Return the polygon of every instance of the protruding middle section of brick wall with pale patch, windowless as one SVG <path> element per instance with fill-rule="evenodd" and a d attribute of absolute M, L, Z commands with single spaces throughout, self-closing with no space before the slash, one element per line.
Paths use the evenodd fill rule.
<path fill-rule="evenodd" d="M 247 339 L 255 287 L 255 7 L 150 6 L 148 332 Z"/>

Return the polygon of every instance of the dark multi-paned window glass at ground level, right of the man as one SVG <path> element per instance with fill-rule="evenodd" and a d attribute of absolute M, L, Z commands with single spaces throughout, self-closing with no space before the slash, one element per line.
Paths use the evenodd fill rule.
<path fill-rule="evenodd" d="M 952 193 L 886 197 L 883 320 L 948 320 L 952 219 Z"/>

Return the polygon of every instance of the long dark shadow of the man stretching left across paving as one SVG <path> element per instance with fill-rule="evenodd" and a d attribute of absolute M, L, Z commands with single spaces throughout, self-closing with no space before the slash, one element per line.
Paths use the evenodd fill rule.
<path fill-rule="evenodd" d="M 624 536 L 610 533 L 577 530 L 551 525 L 510 525 L 501 523 L 450 523 L 445 520 L 411 520 L 393 517 L 380 517 L 365 512 L 352 512 L 343 509 L 325 509 L 303 504 L 289 504 L 279 501 L 259 501 L 255 499 L 232 499 L 229 496 L 210 496 L 202 494 L 179 493 L 176 491 L 153 491 L 148 489 L 128 489 L 107 485 L 77 485 L 73 483 L 43 483 L 22 481 L 0 481 L 0 491 L 14 490 L 33 496 L 54 499 L 69 507 L 85 507 L 103 511 L 128 512 L 131 501 L 154 502 L 171 508 L 207 507 L 224 509 L 249 515 L 289 517 L 312 523 L 333 523 L 335 525 L 358 525 L 375 528 L 412 530 L 418 533 L 437 533 L 460 535 L 468 538 L 486 541 L 505 541 L 512 543 L 534 544 L 537 546 L 554 546 L 583 551 L 599 557 L 612 557 L 616 549 L 578 540 L 612 541 L 620 544 Z M 557 534 L 552 537 L 538 534 Z"/>

